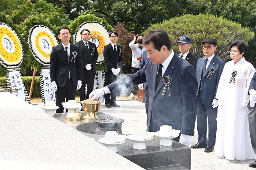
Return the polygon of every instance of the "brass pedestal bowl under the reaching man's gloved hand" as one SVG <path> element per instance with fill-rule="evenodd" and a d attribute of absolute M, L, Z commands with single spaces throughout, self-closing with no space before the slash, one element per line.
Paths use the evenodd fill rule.
<path fill-rule="evenodd" d="M 83 104 L 83 111 L 86 111 L 86 116 L 84 116 L 84 119 L 97 119 L 98 116 L 96 114 L 96 112 L 98 112 L 101 108 L 101 103 L 102 101 L 89 101 L 84 100 L 81 101 L 81 103 Z"/>

